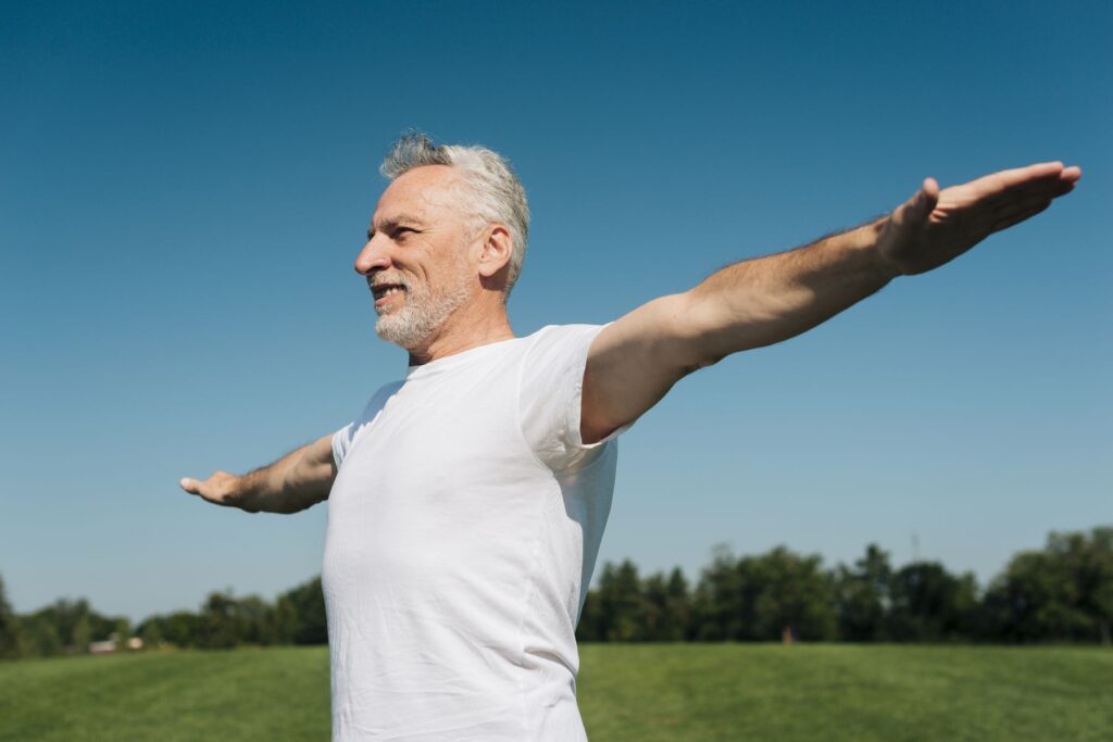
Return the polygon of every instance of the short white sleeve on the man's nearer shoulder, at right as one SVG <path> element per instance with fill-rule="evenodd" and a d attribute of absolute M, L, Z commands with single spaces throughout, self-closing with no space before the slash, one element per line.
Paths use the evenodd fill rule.
<path fill-rule="evenodd" d="M 533 453 L 553 471 L 587 466 L 630 427 L 624 425 L 592 444 L 580 437 L 583 370 L 591 343 L 603 327 L 545 327 L 522 362 L 519 423 Z"/>

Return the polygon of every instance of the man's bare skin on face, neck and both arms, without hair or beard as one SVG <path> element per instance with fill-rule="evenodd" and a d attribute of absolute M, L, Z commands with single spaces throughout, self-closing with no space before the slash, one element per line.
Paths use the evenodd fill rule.
<path fill-rule="evenodd" d="M 589 349 L 581 437 L 593 443 L 637 419 L 678 380 L 732 353 L 795 337 L 900 276 L 949 263 L 989 235 L 1046 209 L 1082 171 L 1062 162 L 1003 170 L 942 189 L 927 178 L 892 214 L 810 245 L 728 266 L 695 288 L 654 299 L 605 327 Z M 380 198 L 355 260 L 368 286 L 404 283 L 434 294 L 463 280 L 467 300 L 414 347 L 411 365 L 514 337 L 506 316 L 505 225 L 473 229 L 457 172 L 416 168 Z M 376 310 L 401 309 L 408 293 Z M 248 512 L 293 513 L 328 497 L 336 477 L 331 436 L 237 476 L 215 472 L 181 487 Z"/>

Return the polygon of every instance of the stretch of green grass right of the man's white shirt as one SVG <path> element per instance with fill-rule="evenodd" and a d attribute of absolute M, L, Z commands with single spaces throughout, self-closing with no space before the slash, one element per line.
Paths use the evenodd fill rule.
<path fill-rule="evenodd" d="M 592 740 L 1113 739 L 1113 652 L 861 645 L 589 645 Z"/>

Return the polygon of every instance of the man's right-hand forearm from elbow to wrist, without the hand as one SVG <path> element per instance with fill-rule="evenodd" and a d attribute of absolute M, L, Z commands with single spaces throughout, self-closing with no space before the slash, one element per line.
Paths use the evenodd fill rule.
<path fill-rule="evenodd" d="M 737 263 L 691 289 L 699 365 L 795 337 L 888 284 L 898 271 L 876 249 L 886 219 Z"/>

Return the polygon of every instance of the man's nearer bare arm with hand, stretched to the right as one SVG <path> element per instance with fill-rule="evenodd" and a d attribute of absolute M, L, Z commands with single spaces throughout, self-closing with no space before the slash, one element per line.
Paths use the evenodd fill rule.
<path fill-rule="evenodd" d="M 593 443 L 657 404 L 680 378 L 788 339 L 902 275 L 932 270 L 1043 211 L 1082 171 L 1062 162 L 939 190 L 928 178 L 890 215 L 795 250 L 746 260 L 608 326 L 583 376 L 581 436 Z"/>

